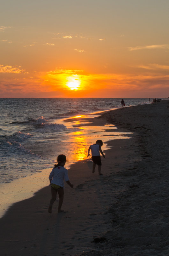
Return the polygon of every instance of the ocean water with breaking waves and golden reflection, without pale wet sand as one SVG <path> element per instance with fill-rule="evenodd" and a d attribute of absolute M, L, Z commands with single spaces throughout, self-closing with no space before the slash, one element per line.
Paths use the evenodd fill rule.
<path fill-rule="evenodd" d="M 126 107 L 149 103 L 149 99 L 124 100 Z M 0 183 L 50 168 L 59 154 L 65 154 L 69 164 L 85 159 L 87 148 L 102 136 L 97 133 L 102 127 L 84 131 L 74 127 L 76 119 L 70 123 L 64 119 L 119 107 L 121 99 L 0 99 Z"/>

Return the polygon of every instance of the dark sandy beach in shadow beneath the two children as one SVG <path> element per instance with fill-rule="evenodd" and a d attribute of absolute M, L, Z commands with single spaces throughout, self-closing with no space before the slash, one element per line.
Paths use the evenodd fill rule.
<path fill-rule="evenodd" d="M 92 174 L 87 159 L 71 166 L 64 213 L 57 213 L 58 199 L 48 213 L 49 186 L 13 204 L 0 219 L 1 255 L 169 255 L 169 100 L 92 121 L 131 132 L 130 139 L 107 142 L 104 175 Z"/>

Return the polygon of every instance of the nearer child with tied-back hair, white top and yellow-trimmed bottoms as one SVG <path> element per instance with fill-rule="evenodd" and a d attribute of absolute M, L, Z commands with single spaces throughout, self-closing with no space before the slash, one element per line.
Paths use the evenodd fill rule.
<path fill-rule="evenodd" d="M 66 168 L 63 166 L 66 163 L 66 156 L 65 155 L 59 155 L 57 157 L 57 163 L 55 164 L 55 167 L 52 169 L 52 172 L 49 175 L 49 180 L 50 180 L 50 186 L 51 186 L 51 194 L 52 198 L 50 199 L 50 204 L 48 208 L 48 212 L 52 213 L 52 205 L 56 200 L 56 194 L 58 193 L 59 195 L 59 205 L 58 205 L 58 212 L 64 212 L 61 210 L 61 206 L 63 203 L 63 195 L 64 195 L 64 182 L 63 180 L 66 181 L 66 183 L 73 188 L 73 184 L 70 183 L 69 177 L 68 177 L 68 171 Z"/>

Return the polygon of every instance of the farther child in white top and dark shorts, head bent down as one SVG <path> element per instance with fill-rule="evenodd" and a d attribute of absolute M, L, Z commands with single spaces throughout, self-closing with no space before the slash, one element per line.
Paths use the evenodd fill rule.
<path fill-rule="evenodd" d="M 100 153 L 102 154 L 102 156 L 105 158 L 105 155 L 103 154 L 103 151 L 101 150 L 101 146 L 103 146 L 103 141 L 102 140 L 97 140 L 95 144 L 90 145 L 89 149 L 88 149 L 88 156 L 90 156 L 89 152 L 90 150 L 92 151 L 92 160 L 93 160 L 93 169 L 92 169 L 92 173 L 95 172 L 95 167 L 96 164 L 98 165 L 98 172 L 99 175 L 102 175 L 103 173 L 101 173 L 101 158 L 100 158 Z"/>

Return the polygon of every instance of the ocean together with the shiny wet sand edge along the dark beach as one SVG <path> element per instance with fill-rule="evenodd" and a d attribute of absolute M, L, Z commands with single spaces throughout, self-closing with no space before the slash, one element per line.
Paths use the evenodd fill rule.
<path fill-rule="evenodd" d="M 126 106 L 149 104 L 149 99 L 124 99 Z M 152 103 L 152 99 L 151 99 Z M 0 99 L 0 217 L 18 201 L 49 185 L 48 176 L 59 154 L 70 165 L 86 159 L 96 140 L 129 139 L 129 132 L 112 124 L 92 125 L 101 111 L 121 108 L 121 99 Z M 79 117 L 80 118 L 76 118 Z M 69 120 L 69 122 L 66 122 Z"/>

